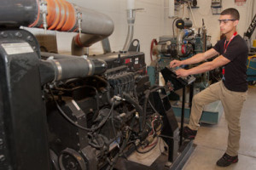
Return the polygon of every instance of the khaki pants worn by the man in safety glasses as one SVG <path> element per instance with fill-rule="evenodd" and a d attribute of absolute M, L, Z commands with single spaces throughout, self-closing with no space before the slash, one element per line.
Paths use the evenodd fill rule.
<path fill-rule="evenodd" d="M 199 120 L 203 107 L 209 103 L 220 100 L 224 107 L 224 114 L 228 122 L 229 138 L 226 153 L 230 156 L 237 156 L 240 140 L 240 116 L 243 102 L 247 98 L 247 92 L 233 92 L 224 87 L 224 82 L 216 82 L 208 88 L 195 94 L 192 101 L 189 128 L 198 130 Z"/>

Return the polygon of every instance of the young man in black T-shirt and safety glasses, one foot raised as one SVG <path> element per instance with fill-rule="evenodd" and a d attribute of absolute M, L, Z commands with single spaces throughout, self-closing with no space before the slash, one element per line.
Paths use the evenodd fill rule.
<path fill-rule="evenodd" d="M 196 54 L 182 61 L 172 60 L 170 63 L 171 67 L 191 65 L 218 55 L 212 61 L 205 62 L 189 70 L 177 70 L 177 77 L 187 77 L 224 66 L 224 77 L 220 82 L 216 82 L 201 91 L 201 93 L 195 94 L 192 101 L 189 126 L 184 127 L 184 138 L 195 139 L 204 105 L 216 100 L 222 102 L 228 123 L 229 137 L 227 150 L 224 156 L 217 161 L 217 165 L 220 167 L 227 167 L 231 163 L 238 161 L 241 108 L 247 97 L 246 63 L 248 49 L 246 42 L 236 32 L 239 17 L 239 12 L 236 8 L 225 9 L 219 17 L 220 31 L 225 36 L 223 39 L 205 53 Z"/>

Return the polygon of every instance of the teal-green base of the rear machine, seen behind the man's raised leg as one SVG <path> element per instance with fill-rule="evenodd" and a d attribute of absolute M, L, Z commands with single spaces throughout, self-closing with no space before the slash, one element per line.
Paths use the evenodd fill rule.
<path fill-rule="evenodd" d="M 182 109 L 181 105 L 172 105 L 172 110 L 177 118 L 181 117 Z M 223 106 L 220 101 L 213 102 L 209 105 L 206 105 L 202 115 L 200 122 L 207 124 L 218 124 L 218 121 L 223 113 Z M 185 107 L 184 111 L 184 119 L 186 122 L 189 122 L 190 109 L 189 107 Z"/>

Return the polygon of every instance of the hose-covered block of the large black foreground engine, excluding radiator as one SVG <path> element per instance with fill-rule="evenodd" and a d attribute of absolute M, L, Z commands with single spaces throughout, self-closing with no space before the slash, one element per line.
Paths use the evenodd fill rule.
<path fill-rule="evenodd" d="M 128 58 L 136 59 L 136 55 Z M 143 69 L 131 72 L 121 65 L 103 75 L 45 85 L 55 169 L 113 168 L 120 156 L 152 143 L 163 121 L 149 100 L 156 87 L 149 86 Z"/>

